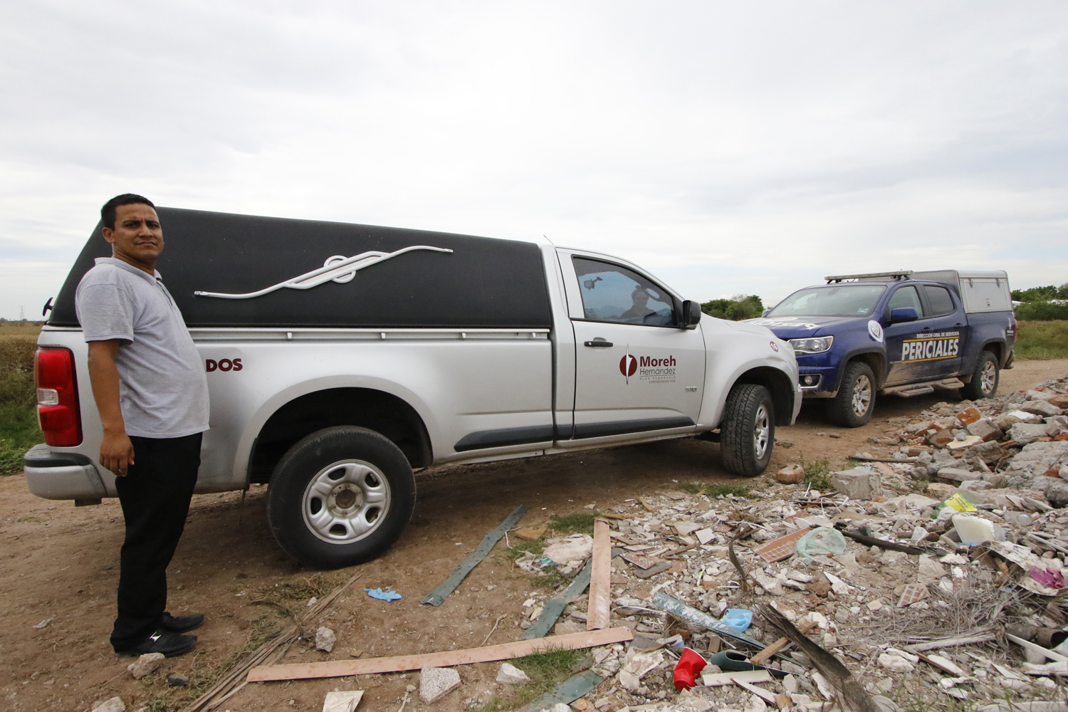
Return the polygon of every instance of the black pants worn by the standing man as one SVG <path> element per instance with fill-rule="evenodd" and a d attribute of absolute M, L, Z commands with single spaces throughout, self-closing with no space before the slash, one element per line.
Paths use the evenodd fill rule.
<path fill-rule="evenodd" d="M 130 438 L 134 462 L 115 490 L 126 520 L 119 575 L 115 650 L 156 632 L 167 610 L 167 566 L 182 538 L 200 469 L 203 433 L 185 438 Z"/>

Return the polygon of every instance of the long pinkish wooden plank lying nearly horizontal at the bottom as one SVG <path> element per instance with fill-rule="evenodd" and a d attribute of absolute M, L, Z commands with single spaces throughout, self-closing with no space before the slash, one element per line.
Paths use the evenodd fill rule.
<path fill-rule="evenodd" d="M 370 658 L 367 660 L 333 660 L 326 663 L 294 663 L 289 665 L 261 665 L 249 670 L 249 682 L 268 680 L 307 680 L 311 678 L 342 678 L 349 675 L 373 675 L 376 673 L 399 673 L 418 670 L 423 667 L 451 667 L 472 663 L 489 663 L 497 660 L 513 660 L 550 648 L 555 650 L 580 650 L 600 645 L 624 643 L 634 639 L 627 628 L 607 628 L 585 633 L 552 635 L 533 640 L 516 640 L 485 648 L 467 650 L 443 650 L 417 655 L 395 655 L 392 658 Z"/>

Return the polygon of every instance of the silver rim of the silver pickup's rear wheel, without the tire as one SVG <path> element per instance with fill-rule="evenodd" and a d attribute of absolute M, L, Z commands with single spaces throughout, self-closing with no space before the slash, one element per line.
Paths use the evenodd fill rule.
<path fill-rule="evenodd" d="M 342 460 L 319 470 L 304 489 L 304 524 L 330 543 L 358 541 L 381 524 L 390 508 L 390 485 L 363 460 Z"/>

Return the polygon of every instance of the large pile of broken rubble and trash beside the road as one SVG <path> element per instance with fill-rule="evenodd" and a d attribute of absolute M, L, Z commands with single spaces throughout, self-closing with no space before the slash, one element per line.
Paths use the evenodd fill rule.
<path fill-rule="evenodd" d="M 602 512 L 610 626 L 634 638 L 592 650 L 602 682 L 571 709 L 1068 700 L 1066 382 L 895 422 L 873 439 L 891 462 L 832 473 L 830 491 L 769 477 L 747 496 L 674 491 Z M 566 560 L 519 566 L 574 576 L 590 556 L 588 537 L 546 543 Z M 520 628 L 555 596 L 532 594 Z M 587 605 L 572 600 L 552 632 L 585 630 Z M 786 636 L 779 614 L 807 639 Z M 704 664 L 690 660 L 692 686 L 677 670 L 687 650 Z"/>

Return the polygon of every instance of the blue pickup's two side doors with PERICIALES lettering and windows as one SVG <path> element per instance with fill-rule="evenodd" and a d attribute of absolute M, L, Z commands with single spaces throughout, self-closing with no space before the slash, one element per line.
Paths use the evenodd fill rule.
<path fill-rule="evenodd" d="M 945 313 L 943 295 L 927 289 L 941 289 L 957 308 Z M 921 289 L 924 289 L 921 297 Z M 912 307 L 920 317 L 915 321 L 890 325 L 885 328 L 886 360 L 890 371 L 886 385 L 945 378 L 960 370 L 963 312 L 944 287 L 902 285 L 886 303 L 885 316 L 899 307 Z M 959 312 L 959 320 L 958 320 Z"/>

